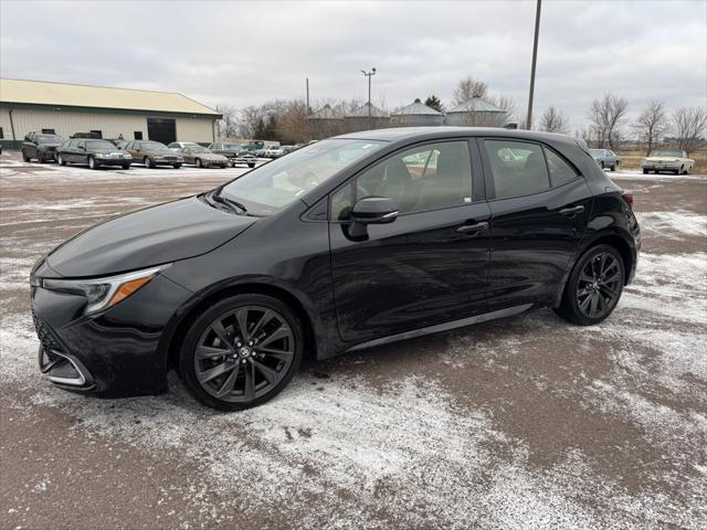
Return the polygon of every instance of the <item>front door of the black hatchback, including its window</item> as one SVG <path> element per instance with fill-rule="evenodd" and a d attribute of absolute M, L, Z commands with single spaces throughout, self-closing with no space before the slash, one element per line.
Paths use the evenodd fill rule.
<path fill-rule="evenodd" d="M 483 186 L 476 144 L 455 139 L 400 150 L 330 194 L 331 274 L 344 340 L 485 311 L 490 211 Z M 398 218 L 352 237 L 351 206 L 368 195 L 393 199 Z"/>

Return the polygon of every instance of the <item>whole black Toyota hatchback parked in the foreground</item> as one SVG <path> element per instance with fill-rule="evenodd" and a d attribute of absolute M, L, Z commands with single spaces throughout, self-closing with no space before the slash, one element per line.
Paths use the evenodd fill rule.
<path fill-rule="evenodd" d="M 104 222 L 34 266 L 56 385 L 253 406 L 325 359 L 536 307 L 602 321 L 641 236 L 585 146 L 398 128 L 304 147 L 214 190 Z M 568 353 L 570 354 L 570 353 Z"/>

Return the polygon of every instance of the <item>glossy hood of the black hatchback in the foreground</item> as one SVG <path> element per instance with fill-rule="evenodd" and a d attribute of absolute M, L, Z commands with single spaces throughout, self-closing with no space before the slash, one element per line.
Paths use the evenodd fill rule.
<path fill-rule="evenodd" d="M 46 263 L 67 277 L 150 267 L 205 254 L 255 220 L 217 210 L 197 197 L 180 199 L 97 224 L 52 251 Z"/>

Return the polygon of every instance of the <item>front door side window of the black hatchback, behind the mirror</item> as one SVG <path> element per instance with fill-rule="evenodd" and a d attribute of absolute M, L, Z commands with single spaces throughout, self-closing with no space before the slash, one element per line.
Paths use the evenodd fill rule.
<path fill-rule="evenodd" d="M 389 197 L 400 214 L 472 202 L 472 169 L 466 141 L 415 147 L 393 155 L 331 195 L 331 219 L 346 219 L 365 197 Z"/>

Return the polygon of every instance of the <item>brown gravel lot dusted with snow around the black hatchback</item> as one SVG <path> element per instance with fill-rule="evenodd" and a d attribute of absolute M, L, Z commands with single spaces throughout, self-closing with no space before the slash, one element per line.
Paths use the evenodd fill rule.
<path fill-rule="evenodd" d="M 637 277 L 604 324 L 550 310 L 304 367 L 220 414 L 99 400 L 36 369 L 35 258 L 115 213 L 245 169 L 0 159 L 2 528 L 705 528 L 707 177 L 634 191 Z"/>

